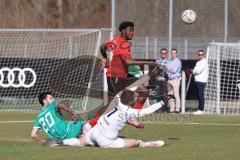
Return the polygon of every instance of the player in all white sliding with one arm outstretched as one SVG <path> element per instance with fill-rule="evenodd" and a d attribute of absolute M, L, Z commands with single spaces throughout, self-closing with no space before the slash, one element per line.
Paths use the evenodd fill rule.
<path fill-rule="evenodd" d="M 141 92 L 141 87 L 134 88 L 136 89 L 125 89 L 118 98 L 115 108 L 103 114 L 98 120 L 97 125 L 85 134 L 84 137 L 88 145 L 104 148 L 123 148 L 160 147 L 165 144 L 161 140 L 143 142 L 141 140 L 118 137 L 118 132 L 125 126 L 128 120 L 151 114 L 174 99 L 174 96 L 167 95 L 159 103 L 140 110 L 134 109 L 132 107 Z"/>

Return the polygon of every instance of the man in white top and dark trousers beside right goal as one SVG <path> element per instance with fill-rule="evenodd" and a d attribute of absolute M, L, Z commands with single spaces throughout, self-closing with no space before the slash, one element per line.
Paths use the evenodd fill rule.
<path fill-rule="evenodd" d="M 208 63 L 205 58 L 206 53 L 204 50 L 199 50 L 198 52 L 199 61 L 196 63 L 193 68 L 193 75 L 196 84 L 196 91 L 198 97 L 198 110 L 194 114 L 203 114 L 204 113 L 204 90 L 208 81 Z"/>

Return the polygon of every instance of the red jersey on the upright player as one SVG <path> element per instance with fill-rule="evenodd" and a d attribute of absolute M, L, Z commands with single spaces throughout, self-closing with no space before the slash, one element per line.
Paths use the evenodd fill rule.
<path fill-rule="evenodd" d="M 130 43 L 121 36 L 114 37 L 105 46 L 107 49 L 112 49 L 113 57 L 107 69 L 108 77 L 127 78 L 128 67 L 127 59 L 132 59 L 130 51 Z"/>

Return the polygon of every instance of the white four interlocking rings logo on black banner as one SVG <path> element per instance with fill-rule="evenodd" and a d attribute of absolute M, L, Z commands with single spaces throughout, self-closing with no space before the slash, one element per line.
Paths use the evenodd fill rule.
<path fill-rule="evenodd" d="M 5 74 L 4 74 L 5 73 Z M 27 83 L 26 77 L 28 75 L 32 76 L 31 83 Z M 5 79 L 5 81 L 4 81 Z M 8 88 L 8 87 L 24 87 L 30 88 L 34 86 L 37 81 L 37 75 L 35 71 L 31 68 L 1 68 L 0 69 L 0 87 Z"/>

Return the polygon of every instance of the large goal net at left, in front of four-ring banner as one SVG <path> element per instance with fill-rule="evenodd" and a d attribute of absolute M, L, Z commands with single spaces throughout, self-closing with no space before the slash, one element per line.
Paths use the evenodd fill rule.
<path fill-rule="evenodd" d="M 0 30 L 0 110 L 37 110 L 44 91 L 80 111 L 99 106 L 99 45 L 109 36 L 108 29 Z"/>

